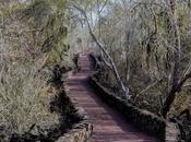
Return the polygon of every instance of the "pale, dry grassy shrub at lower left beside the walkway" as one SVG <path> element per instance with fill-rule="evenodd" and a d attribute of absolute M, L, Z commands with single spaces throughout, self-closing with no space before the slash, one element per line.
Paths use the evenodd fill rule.
<path fill-rule="evenodd" d="M 58 123 L 58 116 L 49 113 L 51 96 L 44 92 L 46 80 L 36 75 L 37 68 L 20 63 L 8 68 L 7 71 L 1 70 L 0 75 L 0 121 L 10 133 L 26 132 L 34 123 Z"/>

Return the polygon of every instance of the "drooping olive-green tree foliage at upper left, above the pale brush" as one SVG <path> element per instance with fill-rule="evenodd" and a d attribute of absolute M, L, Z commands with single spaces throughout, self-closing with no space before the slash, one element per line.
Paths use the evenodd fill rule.
<path fill-rule="evenodd" d="M 67 51 L 67 20 L 65 1 L 59 0 L 36 0 L 22 13 L 22 21 L 34 32 L 35 45 L 40 51 L 47 54 L 47 64 L 60 61 L 64 51 Z M 40 37 L 36 35 L 40 34 Z"/>

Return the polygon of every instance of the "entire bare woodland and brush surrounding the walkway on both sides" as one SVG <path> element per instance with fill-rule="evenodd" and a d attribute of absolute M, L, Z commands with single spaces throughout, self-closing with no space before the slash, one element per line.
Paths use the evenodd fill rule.
<path fill-rule="evenodd" d="M 0 139 L 58 125 L 51 69 L 94 51 L 103 84 L 191 141 L 190 23 L 190 0 L 0 0 Z"/>

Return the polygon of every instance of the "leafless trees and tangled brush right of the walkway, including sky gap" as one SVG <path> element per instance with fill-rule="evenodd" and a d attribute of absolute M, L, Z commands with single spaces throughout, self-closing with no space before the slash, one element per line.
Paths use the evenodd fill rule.
<path fill-rule="evenodd" d="M 71 34 L 76 36 L 76 43 L 71 44 L 94 48 L 102 55 L 107 67 L 103 82 L 119 88 L 121 97 L 139 107 L 175 118 L 181 127 L 189 126 L 191 1 L 70 3 L 75 27 Z M 187 125 L 182 119 L 187 119 Z M 186 135 L 190 141 L 188 131 Z"/>

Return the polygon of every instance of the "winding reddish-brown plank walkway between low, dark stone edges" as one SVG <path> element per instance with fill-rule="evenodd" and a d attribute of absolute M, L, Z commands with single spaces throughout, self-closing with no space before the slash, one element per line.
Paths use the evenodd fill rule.
<path fill-rule="evenodd" d="M 153 137 L 140 132 L 112 108 L 108 107 L 88 85 L 87 78 L 94 72 L 88 54 L 80 55 L 81 71 L 68 78 L 70 97 L 88 114 L 94 126 L 91 142 L 157 142 Z"/>

